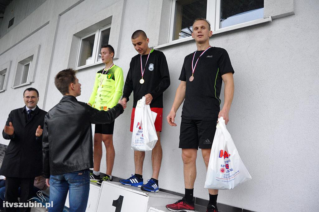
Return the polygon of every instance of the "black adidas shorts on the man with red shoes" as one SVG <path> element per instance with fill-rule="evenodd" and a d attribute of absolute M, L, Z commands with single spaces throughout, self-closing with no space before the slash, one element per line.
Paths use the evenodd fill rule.
<path fill-rule="evenodd" d="M 182 118 L 179 148 L 211 148 L 216 125 L 217 120 L 191 120 Z"/>

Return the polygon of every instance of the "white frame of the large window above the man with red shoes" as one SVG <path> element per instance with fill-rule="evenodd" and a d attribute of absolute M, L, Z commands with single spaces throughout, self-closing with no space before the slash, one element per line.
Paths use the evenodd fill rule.
<path fill-rule="evenodd" d="M 174 36 L 174 27 L 175 27 L 175 21 L 176 21 L 176 2 L 179 0 L 172 0 L 172 7 L 171 7 L 171 19 L 170 19 L 170 27 L 169 27 L 169 37 L 168 37 L 168 42 L 176 42 L 177 40 L 182 40 L 186 41 L 189 40 L 191 36 L 181 38 L 181 39 L 176 39 L 173 40 Z M 221 6 L 221 0 L 207 0 L 207 8 L 206 8 L 206 19 L 210 21 L 211 23 L 211 31 L 215 32 L 218 30 L 225 30 L 227 27 L 230 28 L 236 28 L 237 26 L 242 26 L 246 23 L 249 23 L 250 21 L 243 22 L 240 24 L 235 24 L 232 26 L 226 26 L 223 28 L 220 28 L 220 6 Z M 263 18 L 262 18 L 263 19 Z M 252 20 L 256 21 L 258 19 Z M 240 27 L 239 27 L 240 28 Z"/>

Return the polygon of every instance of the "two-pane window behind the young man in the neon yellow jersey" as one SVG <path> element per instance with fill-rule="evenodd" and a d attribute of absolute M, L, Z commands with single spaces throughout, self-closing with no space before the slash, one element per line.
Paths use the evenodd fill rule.
<path fill-rule="evenodd" d="M 111 27 L 105 26 L 80 38 L 77 67 L 101 61 L 99 57 L 102 45 L 107 45 Z"/>

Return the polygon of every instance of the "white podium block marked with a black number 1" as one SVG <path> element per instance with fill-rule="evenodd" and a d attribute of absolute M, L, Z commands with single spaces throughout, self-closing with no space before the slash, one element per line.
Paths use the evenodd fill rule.
<path fill-rule="evenodd" d="M 180 199 L 173 194 L 145 192 L 137 187 L 103 181 L 96 212 L 148 212 L 150 207 L 165 207 Z"/>

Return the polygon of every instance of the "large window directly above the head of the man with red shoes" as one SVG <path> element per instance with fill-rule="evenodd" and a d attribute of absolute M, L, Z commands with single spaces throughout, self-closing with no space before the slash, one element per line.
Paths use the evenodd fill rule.
<path fill-rule="evenodd" d="M 263 18 L 263 0 L 173 0 L 170 38 L 191 36 L 193 21 L 206 18 L 211 30 Z"/>

